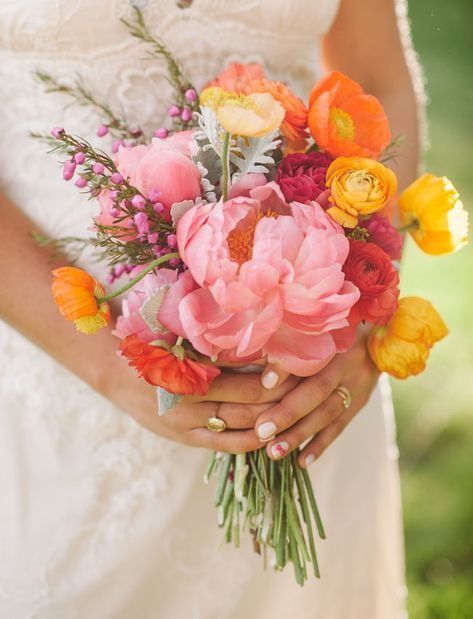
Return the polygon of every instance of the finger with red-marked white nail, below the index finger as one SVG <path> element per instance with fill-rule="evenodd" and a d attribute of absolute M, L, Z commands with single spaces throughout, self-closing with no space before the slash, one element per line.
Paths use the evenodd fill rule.
<path fill-rule="evenodd" d="M 337 393 L 332 393 L 325 402 L 302 417 L 291 428 L 278 434 L 268 443 L 266 452 L 272 460 L 279 460 L 329 426 L 346 409 Z"/>

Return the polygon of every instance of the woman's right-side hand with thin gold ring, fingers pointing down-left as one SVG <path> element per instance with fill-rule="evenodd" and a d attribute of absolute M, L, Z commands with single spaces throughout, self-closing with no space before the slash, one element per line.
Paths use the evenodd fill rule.
<path fill-rule="evenodd" d="M 269 441 L 268 456 L 277 460 L 311 439 L 299 455 L 300 466 L 309 466 L 368 402 L 378 376 L 368 356 L 366 335 L 360 334 L 351 350 L 337 355 L 323 370 L 302 380 L 279 403 L 261 413 L 255 428 L 261 441 Z M 278 377 L 281 380 L 284 375 L 268 367 L 263 384 L 270 386 Z M 335 391 L 339 386 L 351 394 L 348 408 Z"/>

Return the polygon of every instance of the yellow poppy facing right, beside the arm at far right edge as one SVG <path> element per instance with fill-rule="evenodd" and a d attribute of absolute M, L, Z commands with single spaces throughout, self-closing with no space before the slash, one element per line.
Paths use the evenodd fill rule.
<path fill-rule="evenodd" d="M 423 174 L 399 197 L 399 216 L 427 254 L 449 254 L 468 242 L 468 213 L 444 176 Z"/>

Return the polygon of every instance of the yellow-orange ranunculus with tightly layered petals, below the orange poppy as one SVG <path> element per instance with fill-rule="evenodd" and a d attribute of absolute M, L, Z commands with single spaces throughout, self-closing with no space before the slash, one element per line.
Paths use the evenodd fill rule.
<path fill-rule="evenodd" d="M 327 170 L 326 182 L 333 203 L 327 213 L 346 228 L 355 228 L 360 215 L 380 211 L 397 190 L 394 172 L 365 157 L 338 157 Z"/>

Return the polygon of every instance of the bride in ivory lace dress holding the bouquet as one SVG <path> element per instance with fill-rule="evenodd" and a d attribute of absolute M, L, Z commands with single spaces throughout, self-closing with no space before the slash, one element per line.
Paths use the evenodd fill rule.
<path fill-rule="evenodd" d="M 381 100 L 393 135 L 407 136 L 401 185 L 415 176 L 402 1 L 139 6 L 198 86 L 235 61 L 263 64 L 304 97 L 322 66 L 348 74 Z M 0 617 L 405 617 L 393 413 L 362 333 L 313 377 L 273 372 L 263 386 L 226 375 L 205 401 L 160 418 L 154 390 L 116 355 L 113 336 L 76 335 L 53 305 L 48 254 L 30 231 L 80 236 L 94 206 L 58 180 L 54 157 L 28 132 L 62 125 L 93 136 L 99 118 L 45 95 L 32 73 L 66 82 L 80 74 L 130 122 L 160 126 L 164 67 L 144 59 L 119 21 L 131 10 L 129 0 L 0 3 Z M 346 411 L 340 384 L 352 395 Z M 233 432 L 205 429 L 219 402 Z M 311 438 L 300 464 L 313 463 L 328 539 L 319 544 L 322 579 L 303 589 L 290 570 L 264 572 L 249 544 L 218 548 L 206 450 L 255 449 L 258 433 L 270 454 Z"/>

